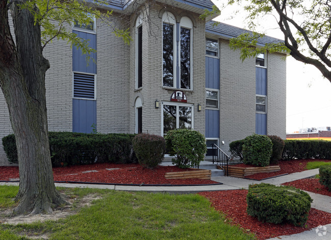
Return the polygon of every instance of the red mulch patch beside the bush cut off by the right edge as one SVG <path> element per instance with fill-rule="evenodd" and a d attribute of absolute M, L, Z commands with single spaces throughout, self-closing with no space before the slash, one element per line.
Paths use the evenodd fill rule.
<path fill-rule="evenodd" d="M 299 179 L 293 182 L 283 183 L 282 185 L 294 186 L 296 188 L 300 188 L 301 190 L 311 191 L 315 194 L 331 197 L 331 191 L 329 191 L 326 186 L 320 184 L 316 178 Z"/>

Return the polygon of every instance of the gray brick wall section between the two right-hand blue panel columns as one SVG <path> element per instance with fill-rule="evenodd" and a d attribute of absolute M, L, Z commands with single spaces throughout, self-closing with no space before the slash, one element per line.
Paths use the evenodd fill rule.
<path fill-rule="evenodd" d="M 220 40 L 220 145 L 228 153 L 228 144 L 255 132 L 256 76 L 255 59 L 241 61 L 228 41 Z"/>

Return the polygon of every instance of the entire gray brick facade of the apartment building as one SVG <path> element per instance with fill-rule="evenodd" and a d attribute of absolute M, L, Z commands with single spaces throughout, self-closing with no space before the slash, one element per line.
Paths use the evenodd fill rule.
<path fill-rule="evenodd" d="M 192 89 L 162 86 L 162 18 L 165 6 L 154 2 L 144 6 L 149 22 L 143 21 L 142 87 L 136 89 L 136 19 L 137 14 L 118 18 L 113 13 L 113 26 L 97 23 L 96 108 L 97 131 L 101 133 L 134 133 L 135 100 L 142 100 L 142 131 L 162 134 L 162 103 L 170 102 L 174 90 L 182 90 L 187 103 L 192 104 L 194 130 L 205 134 L 206 109 L 206 22 L 199 14 L 166 6 L 180 21 L 190 16 L 192 29 Z M 162 15 L 162 14 L 161 14 Z M 132 42 L 125 44 L 116 37 L 113 27 L 130 29 Z M 239 51 L 233 51 L 228 40 L 220 39 L 219 140 L 228 152 L 228 144 L 255 132 L 256 75 L 255 59 L 241 61 Z M 50 62 L 46 73 L 46 100 L 49 131 L 72 131 L 72 50 L 63 41 L 47 45 L 44 56 Z M 268 54 L 267 58 L 267 134 L 285 138 L 286 129 L 286 62 L 284 55 Z M 155 108 L 155 101 L 160 103 Z M 202 107 L 197 111 L 197 105 Z M 0 137 L 12 133 L 9 113 L 3 94 L 0 94 Z M 0 165 L 8 165 L 0 147 Z"/>

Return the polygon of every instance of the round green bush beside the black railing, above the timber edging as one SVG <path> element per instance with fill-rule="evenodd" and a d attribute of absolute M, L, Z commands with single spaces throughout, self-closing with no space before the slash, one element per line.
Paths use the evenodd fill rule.
<path fill-rule="evenodd" d="M 265 135 L 253 134 L 244 139 L 242 147 L 245 164 L 268 166 L 272 153 L 272 142 Z"/>

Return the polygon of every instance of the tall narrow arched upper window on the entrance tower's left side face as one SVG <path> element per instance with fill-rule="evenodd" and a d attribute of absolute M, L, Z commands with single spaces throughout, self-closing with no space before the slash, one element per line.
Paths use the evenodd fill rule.
<path fill-rule="evenodd" d="M 136 22 L 136 88 L 142 87 L 142 16 Z"/>

